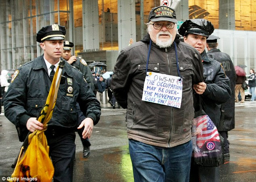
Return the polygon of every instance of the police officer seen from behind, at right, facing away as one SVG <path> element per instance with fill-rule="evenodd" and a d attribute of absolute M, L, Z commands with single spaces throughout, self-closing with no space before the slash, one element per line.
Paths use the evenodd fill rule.
<path fill-rule="evenodd" d="M 208 39 L 206 39 L 206 48 L 208 50 L 207 56 L 215 59 L 220 62 L 223 66 L 223 69 L 229 77 L 230 80 L 230 88 L 231 88 L 231 97 L 229 100 L 221 105 L 221 120 L 220 125 L 218 127 L 218 132 L 224 138 L 224 156 L 229 157 L 229 140 L 228 131 L 235 128 L 235 67 L 231 58 L 228 54 L 221 52 L 217 46 L 217 39 L 220 39 L 217 36 L 210 35 Z"/>

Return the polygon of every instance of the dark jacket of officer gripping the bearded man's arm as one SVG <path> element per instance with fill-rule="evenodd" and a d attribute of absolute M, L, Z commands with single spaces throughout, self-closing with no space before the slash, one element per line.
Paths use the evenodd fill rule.
<path fill-rule="evenodd" d="M 220 104 L 227 102 L 231 96 L 229 78 L 220 63 L 208 58 L 206 51 L 201 53 L 204 65 L 206 90 L 201 95 L 202 108 L 218 129 L 220 123 Z"/>

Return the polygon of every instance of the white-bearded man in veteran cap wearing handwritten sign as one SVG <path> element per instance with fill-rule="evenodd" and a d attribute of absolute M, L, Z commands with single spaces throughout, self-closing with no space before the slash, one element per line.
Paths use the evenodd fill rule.
<path fill-rule="evenodd" d="M 176 23 L 172 8 L 153 8 L 148 34 L 121 50 L 114 67 L 135 182 L 189 181 L 192 119 L 206 84 L 200 53 L 180 42 Z"/>

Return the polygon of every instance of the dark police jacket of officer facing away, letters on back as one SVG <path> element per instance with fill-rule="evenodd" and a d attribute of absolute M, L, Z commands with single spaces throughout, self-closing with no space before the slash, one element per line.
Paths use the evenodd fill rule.
<path fill-rule="evenodd" d="M 227 77 L 229 77 L 231 97 L 221 105 L 221 109 L 225 112 L 222 113 L 224 120 L 220 121 L 218 131 L 230 131 L 235 128 L 235 67 L 230 56 L 217 48 L 209 50 L 207 56 L 220 62 Z"/>

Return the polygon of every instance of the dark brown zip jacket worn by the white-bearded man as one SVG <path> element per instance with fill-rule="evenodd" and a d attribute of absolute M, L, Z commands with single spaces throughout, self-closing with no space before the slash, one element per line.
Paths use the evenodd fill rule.
<path fill-rule="evenodd" d="M 161 147 L 174 147 L 191 140 L 194 117 L 192 86 L 202 82 L 203 67 L 199 52 L 178 40 L 175 40 L 178 69 L 183 77 L 180 109 L 142 101 L 149 34 L 120 52 L 111 89 L 118 103 L 127 108 L 128 138 Z M 178 76 L 174 44 L 169 48 L 159 48 L 152 42 L 148 71 Z"/>

